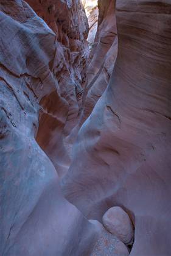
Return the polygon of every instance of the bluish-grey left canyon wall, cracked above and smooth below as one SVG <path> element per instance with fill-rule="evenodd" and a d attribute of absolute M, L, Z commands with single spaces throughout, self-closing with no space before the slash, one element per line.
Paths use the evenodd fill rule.
<path fill-rule="evenodd" d="M 65 124 L 68 103 L 54 71 L 61 48 L 26 2 L 4 0 L 0 10 L 0 255 L 90 254 L 98 233 L 64 199 L 35 141 L 39 112 L 44 140 L 47 127 L 60 137 Z"/>

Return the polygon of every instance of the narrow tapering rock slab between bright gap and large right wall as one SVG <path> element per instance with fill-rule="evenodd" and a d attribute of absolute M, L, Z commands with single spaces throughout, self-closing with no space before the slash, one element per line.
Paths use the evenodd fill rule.
<path fill-rule="evenodd" d="M 98 1 L 98 28 L 89 56 L 80 125 L 91 114 L 94 105 L 105 91 L 116 61 L 117 29 L 114 5 L 115 0 Z"/>

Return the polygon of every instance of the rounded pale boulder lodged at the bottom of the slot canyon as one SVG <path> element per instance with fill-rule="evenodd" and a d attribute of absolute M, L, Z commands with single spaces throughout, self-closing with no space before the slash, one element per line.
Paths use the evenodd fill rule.
<path fill-rule="evenodd" d="M 127 213 L 120 207 L 111 207 L 103 215 L 103 225 L 124 244 L 133 240 L 133 226 Z"/>

